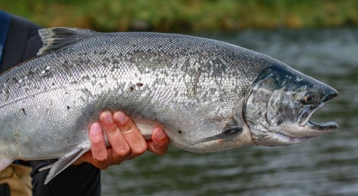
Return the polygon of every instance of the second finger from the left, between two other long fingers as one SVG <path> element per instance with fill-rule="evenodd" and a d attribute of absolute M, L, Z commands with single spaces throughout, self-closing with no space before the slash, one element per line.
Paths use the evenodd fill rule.
<path fill-rule="evenodd" d="M 111 144 L 112 150 L 110 150 L 109 154 L 113 157 L 112 161 L 121 162 L 125 160 L 129 156 L 130 147 L 113 120 L 112 114 L 109 111 L 105 111 L 102 112 L 99 118 L 106 132 L 108 141 Z"/>

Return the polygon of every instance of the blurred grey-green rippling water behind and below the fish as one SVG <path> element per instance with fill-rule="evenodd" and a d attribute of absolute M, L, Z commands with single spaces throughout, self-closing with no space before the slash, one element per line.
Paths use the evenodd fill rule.
<path fill-rule="evenodd" d="M 196 154 L 171 147 L 102 172 L 105 196 L 358 195 L 358 29 L 202 33 L 259 51 L 339 92 L 314 115 L 339 130 L 285 147 Z"/>

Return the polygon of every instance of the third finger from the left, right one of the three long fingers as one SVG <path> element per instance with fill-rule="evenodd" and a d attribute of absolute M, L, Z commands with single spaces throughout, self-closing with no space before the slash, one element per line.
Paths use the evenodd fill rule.
<path fill-rule="evenodd" d="M 116 112 L 114 119 L 130 147 L 129 158 L 143 154 L 147 150 L 147 142 L 138 127 L 123 112 Z"/>

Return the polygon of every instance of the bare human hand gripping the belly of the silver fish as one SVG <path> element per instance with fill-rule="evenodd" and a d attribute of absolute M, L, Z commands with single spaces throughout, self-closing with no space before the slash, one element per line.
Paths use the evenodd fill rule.
<path fill-rule="evenodd" d="M 146 150 L 154 154 L 164 154 L 169 146 L 169 139 L 160 127 L 153 129 L 152 140 L 146 141 L 133 121 L 123 112 L 109 111 L 100 114 L 100 123 L 107 135 L 110 147 L 106 147 L 100 123 L 93 123 L 89 128 L 91 151 L 82 155 L 72 166 L 88 162 L 100 169 L 143 154 Z"/>

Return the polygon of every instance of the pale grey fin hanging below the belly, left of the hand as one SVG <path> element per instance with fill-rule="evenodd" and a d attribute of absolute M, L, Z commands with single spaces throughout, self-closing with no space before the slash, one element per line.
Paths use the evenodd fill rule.
<path fill-rule="evenodd" d="M 38 171 L 43 171 L 51 168 L 49 174 L 46 177 L 44 184 L 47 184 L 52 178 L 54 178 L 57 174 L 62 172 L 64 169 L 66 169 L 69 165 L 75 162 L 82 154 L 84 154 L 88 150 L 89 147 L 88 148 L 77 147 L 71 152 L 65 154 L 55 163 L 51 163 L 43 168 L 40 168 Z"/>

